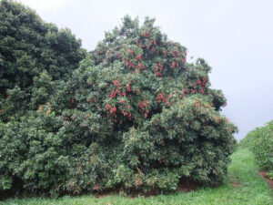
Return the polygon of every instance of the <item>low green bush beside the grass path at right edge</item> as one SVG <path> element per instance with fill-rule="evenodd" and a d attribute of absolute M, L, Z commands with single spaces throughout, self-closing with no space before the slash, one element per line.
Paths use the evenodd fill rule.
<path fill-rule="evenodd" d="M 248 132 L 240 144 L 252 150 L 260 169 L 268 170 L 268 177 L 273 179 L 273 120 Z"/>

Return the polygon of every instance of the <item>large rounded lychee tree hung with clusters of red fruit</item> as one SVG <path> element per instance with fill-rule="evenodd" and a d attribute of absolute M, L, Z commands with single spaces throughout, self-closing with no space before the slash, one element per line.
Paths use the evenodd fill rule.
<path fill-rule="evenodd" d="M 179 179 L 216 185 L 227 174 L 237 128 L 220 115 L 226 98 L 209 87 L 206 61 L 187 63 L 187 48 L 169 41 L 154 21 L 138 26 L 126 16 L 106 32 L 68 82 L 63 103 L 53 103 L 56 110 L 66 104 L 68 127 L 86 130 L 71 138 L 96 145 L 96 159 L 107 167 L 81 187 L 82 177 L 96 172 L 86 155 L 80 167 L 86 175 L 70 181 L 75 190 L 169 191 Z"/>

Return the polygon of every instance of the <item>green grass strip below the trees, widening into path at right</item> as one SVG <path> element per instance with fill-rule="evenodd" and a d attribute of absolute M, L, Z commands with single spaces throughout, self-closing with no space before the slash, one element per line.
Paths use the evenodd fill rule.
<path fill-rule="evenodd" d="M 124 196 L 108 196 L 96 199 L 93 195 L 81 197 L 66 196 L 60 199 L 10 199 L 0 201 L 0 205 L 86 205 L 86 204 L 273 204 L 273 191 L 267 182 L 258 175 L 258 165 L 253 154 L 245 148 L 231 156 L 232 163 L 228 168 L 225 184 L 215 189 L 201 189 L 192 192 L 177 192 L 150 198 L 128 198 Z"/>

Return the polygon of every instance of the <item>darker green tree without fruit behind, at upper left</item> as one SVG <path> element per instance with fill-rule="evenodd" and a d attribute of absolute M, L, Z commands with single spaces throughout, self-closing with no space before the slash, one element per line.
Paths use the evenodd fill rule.
<path fill-rule="evenodd" d="M 45 103 L 34 82 L 41 73 L 52 81 L 69 77 L 86 52 L 69 29 L 46 24 L 19 3 L 0 2 L 0 119 Z M 48 91 L 48 90 L 40 90 Z M 46 93 L 45 93 L 46 96 Z"/>

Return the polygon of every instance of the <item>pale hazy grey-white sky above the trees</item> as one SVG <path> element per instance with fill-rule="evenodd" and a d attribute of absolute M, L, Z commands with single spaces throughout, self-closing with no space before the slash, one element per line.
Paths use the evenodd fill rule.
<path fill-rule="evenodd" d="M 223 114 L 236 136 L 273 119 L 273 0 L 21 0 L 46 22 L 68 27 L 94 49 L 124 15 L 155 17 L 169 39 L 213 67 L 212 87 L 227 97 Z"/>

